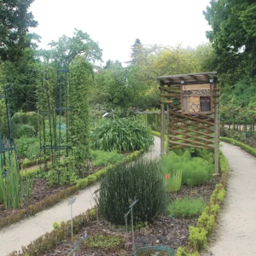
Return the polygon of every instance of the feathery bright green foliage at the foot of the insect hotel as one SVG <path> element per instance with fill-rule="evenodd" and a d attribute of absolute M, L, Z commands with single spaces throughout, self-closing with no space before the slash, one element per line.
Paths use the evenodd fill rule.
<path fill-rule="evenodd" d="M 183 183 L 189 186 L 206 183 L 214 172 L 213 166 L 207 160 L 192 158 L 188 150 L 180 156 L 171 152 L 160 160 L 160 165 L 165 174 L 182 172 Z"/>

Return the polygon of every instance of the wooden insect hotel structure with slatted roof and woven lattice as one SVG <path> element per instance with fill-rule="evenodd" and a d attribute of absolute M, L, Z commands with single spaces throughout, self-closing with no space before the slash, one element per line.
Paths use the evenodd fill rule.
<path fill-rule="evenodd" d="M 206 148 L 214 151 L 218 172 L 219 87 L 216 72 L 162 76 L 161 154 L 165 153 L 165 110 L 168 150 Z"/>

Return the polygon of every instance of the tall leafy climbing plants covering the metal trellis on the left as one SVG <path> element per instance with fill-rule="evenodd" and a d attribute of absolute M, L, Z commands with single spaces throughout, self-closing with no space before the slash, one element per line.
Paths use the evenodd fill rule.
<path fill-rule="evenodd" d="M 90 64 L 82 58 L 70 69 L 49 67 L 38 86 L 39 141 L 49 183 L 72 183 L 84 177 L 89 157 L 88 87 Z"/>

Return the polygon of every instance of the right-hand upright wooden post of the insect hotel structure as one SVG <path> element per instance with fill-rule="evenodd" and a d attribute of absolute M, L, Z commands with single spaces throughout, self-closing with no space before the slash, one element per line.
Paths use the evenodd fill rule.
<path fill-rule="evenodd" d="M 215 90 L 218 90 L 218 82 L 214 84 Z M 215 173 L 218 173 L 218 106 L 219 106 L 219 96 L 215 98 L 215 108 L 214 108 L 214 163 L 215 163 Z"/>

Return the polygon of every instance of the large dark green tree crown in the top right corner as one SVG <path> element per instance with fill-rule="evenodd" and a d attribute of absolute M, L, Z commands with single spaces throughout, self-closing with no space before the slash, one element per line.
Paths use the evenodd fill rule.
<path fill-rule="evenodd" d="M 254 0 L 212 0 L 204 15 L 217 55 L 218 72 L 256 75 L 256 3 Z"/>

